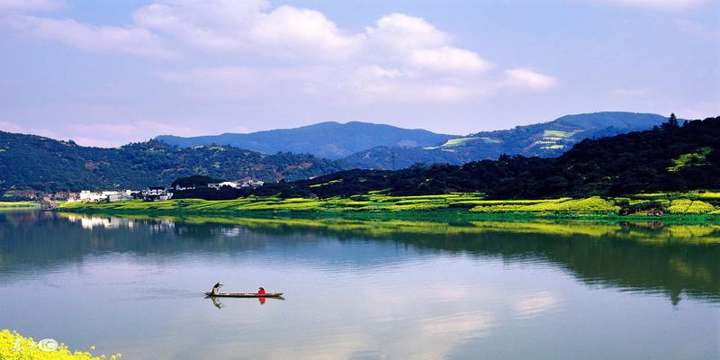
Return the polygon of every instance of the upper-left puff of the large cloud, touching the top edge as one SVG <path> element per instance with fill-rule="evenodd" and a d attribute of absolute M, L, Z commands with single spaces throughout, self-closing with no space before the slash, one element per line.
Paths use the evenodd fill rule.
<path fill-rule="evenodd" d="M 208 4 L 211 3 L 211 4 Z M 347 58 L 357 40 L 324 14 L 267 1 L 171 1 L 133 14 L 138 26 L 202 49 L 242 50 L 275 58 Z"/>

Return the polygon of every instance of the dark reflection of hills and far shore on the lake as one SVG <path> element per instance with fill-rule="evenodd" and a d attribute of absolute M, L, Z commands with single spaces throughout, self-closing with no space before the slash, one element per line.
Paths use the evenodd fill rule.
<path fill-rule="evenodd" d="M 467 254 L 505 262 L 549 263 L 587 284 L 720 301 L 720 227 L 647 224 L 479 222 L 464 226 L 406 221 L 280 221 L 121 218 L 50 212 L 0 214 L 0 272 L 57 266 L 108 252 L 144 257 L 285 252 L 322 268 L 392 266 L 374 248 L 338 258 L 328 238 L 392 241 L 420 253 Z M 31 223 L 32 226 L 27 226 Z M 79 225 L 79 226 L 78 226 Z M 87 231 L 91 230 L 91 231 Z M 58 241 L 59 239 L 59 241 Z M 0 279 L 0 281 L 6 281 Z"/>

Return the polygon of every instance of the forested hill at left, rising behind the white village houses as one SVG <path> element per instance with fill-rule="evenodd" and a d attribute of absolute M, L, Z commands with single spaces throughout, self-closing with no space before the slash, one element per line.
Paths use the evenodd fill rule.
<path fill-rule="evenodd" d="M 178 148 L 151 140 L 121 148 L 88 148 L 71 141 L 0 131 L 0 191 L 43 192 L 169 185 L 177 177 L 297 180 L 340 170 L 311 155 L 230 147 Z"/>

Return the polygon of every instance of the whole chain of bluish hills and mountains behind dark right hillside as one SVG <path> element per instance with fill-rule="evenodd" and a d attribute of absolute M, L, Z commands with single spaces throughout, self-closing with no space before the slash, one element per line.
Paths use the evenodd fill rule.
<path fill-rule="evenodd" d="M 0 193 L 142 188 L 189 175 L 293 181 L 352 168 L 393 168 L 393 160 L 395 168 L 405 168 L 501 154 L 555 157 L 581 139 L 651 129 L 663 121 L 655 114 L 598 112 L 462 137 L 357 121 L 322 122 L 250 134 L 161 136 L 120 148 L 0 131 Z"/>

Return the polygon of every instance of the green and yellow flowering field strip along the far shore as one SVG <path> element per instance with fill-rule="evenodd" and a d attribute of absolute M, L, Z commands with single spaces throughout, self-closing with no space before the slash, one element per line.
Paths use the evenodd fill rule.
<path fill-rule="evenodd" d="M 627 206 L 662 206 L 662 217 L 638 211 L 620 216 Z M 720 193 L 644 193 L 625 197 L 543 200 L 486 200 L 482 193 L 390 196 L 382 192 L 329 199 L 247 197 L 227 201 L 179 199 L 166 202 L 67 202 L 62 211 L 146 213 L 175 216 L 231 216 L 247 218 L 356 219 L 356 220 L 473 220 L 572 219 L 663 220 L 666 222 L 720 222 Z"/>

